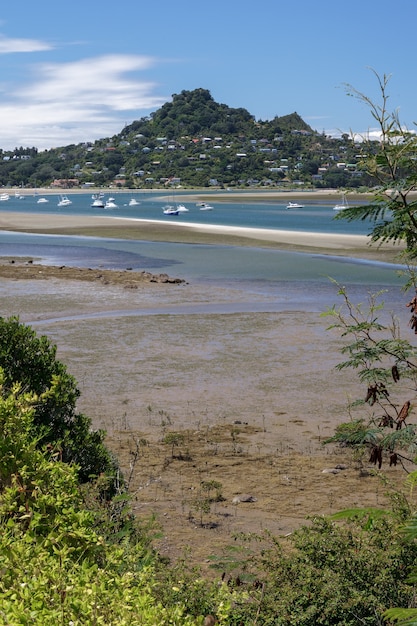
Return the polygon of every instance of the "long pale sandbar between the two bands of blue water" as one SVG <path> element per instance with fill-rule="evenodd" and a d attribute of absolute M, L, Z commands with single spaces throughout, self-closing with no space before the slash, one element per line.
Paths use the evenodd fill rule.
<path fill-rule="evenodd" d="M 311 233 L 114 216 L 45 215 L 0 211 L 0 230 L 33 234 L 73 235 L 190 244 L 273 247 L 298 252 L 353 256 L 395 262 L 401 248 L 370 245 L 367 235 Z"/>

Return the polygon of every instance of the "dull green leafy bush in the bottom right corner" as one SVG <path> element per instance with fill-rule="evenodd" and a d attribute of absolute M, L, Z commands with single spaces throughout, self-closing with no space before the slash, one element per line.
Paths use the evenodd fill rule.
<path fill-rule="evenodd" d="M 358 515 L 343 523 L 317 517 L 286 539 L 256 538 L 266 542 L 257 563 L 262 593 L 258 581 L 248 586 L 251 602 L 235 605 L 244 612 L 242 623 L 384 623 L 388 607 L 407 606 L 414 598 L 407 578 L 417 546 L 401 533 L 404 512 Z"/>

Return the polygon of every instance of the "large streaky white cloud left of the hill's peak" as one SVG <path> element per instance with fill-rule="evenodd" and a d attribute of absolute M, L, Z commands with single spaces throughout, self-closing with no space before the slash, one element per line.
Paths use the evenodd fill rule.
<path fill-rule="evenodd" d="M 132 76 L 154 64 L 145 56 L 106 55 L 35 65 L 30 84 L 3 93 L 0 148 L 42 150 L 120 132 L 167 101 L 153 95 L 155 83 Z"/>

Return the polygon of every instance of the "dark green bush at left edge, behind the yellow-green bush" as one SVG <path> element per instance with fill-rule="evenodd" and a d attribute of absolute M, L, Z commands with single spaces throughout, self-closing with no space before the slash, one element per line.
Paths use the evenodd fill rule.
<path fill-rule="evenodd" d="M 103 443 L 105 433 L 92 431 L 90 418 L 76 412 L 80 391 L 46 336 L 38 337 L 17 317 L 0 318 L 0 367 L 6 393 L 21 383 L 25 391 L 44 394 L 33 418 L 39 445 L 58 446 L 61 460 L 78 466 L 80 482 L 116 474 L 117 464 Z"/>

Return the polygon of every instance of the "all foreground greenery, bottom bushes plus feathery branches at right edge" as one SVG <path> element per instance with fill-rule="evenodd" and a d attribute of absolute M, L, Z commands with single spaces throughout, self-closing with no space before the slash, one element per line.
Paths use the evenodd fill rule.
<path fill-rule="evenodd" d="M 386 84 L 380 79 L 382 105 L 371 108 L 381 150 L 376 155 L 370 145 L 366 161 L 381 188 L 374 203 L 345 217 L 374 219 L 376 242 L 404 241 L 405 286 L 415 287 L 417 141 L 387 112 Z M 341 425 L 332 442 L 369 455 L 378 472 L 388 461 L 402 464 L 409 497 L 391 493 L 390 510 L 315 517 L 288 537 L 235 537 L 215 582 L 186 559 L 161 558 L 153 546 L 158 528 L 132 514 L 127 481 L 104 433 L 77 413 L 77 384 L 55 346 L 17 318 L 2 319 L 1 623 L 417 624 L 417 353 L 395 319 L 391 327 L 378 321 L 376 297 L 364 311 L 343 286 L 339 292 L 343 304 L 328 315 L 349 342 L 340 368 L 357 369 L 366 394 L 351 407 L 361 416 Z M 416 311 L 411 300 L 413 330 Z M 171 436 L 165 443 L 173 455 L 180 442 Z"/>

